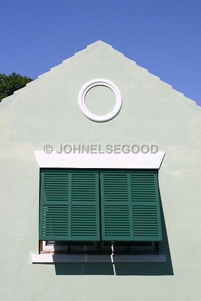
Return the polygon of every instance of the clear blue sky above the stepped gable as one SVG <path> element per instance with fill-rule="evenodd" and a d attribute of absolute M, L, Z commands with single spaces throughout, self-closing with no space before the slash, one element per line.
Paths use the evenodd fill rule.
<path fill-rule="evenodd" d="M 1 0 L 0 73 L 36 79 L 97 40 L 201 105 L 200 0 Z"/>

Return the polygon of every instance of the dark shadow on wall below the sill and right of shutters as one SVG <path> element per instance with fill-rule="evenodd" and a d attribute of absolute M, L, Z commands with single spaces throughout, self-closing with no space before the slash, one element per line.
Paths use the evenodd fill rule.
<path fill-rule="evenodd" d="M 159 192 L 160 196 L 160 192 Z M 55 263 L 57 275 L 173 275 L 173 267 L 160 197 L 160 213 L 163 240 L 159 242 L 159 254 L 165 254 L 165 263 Z"/>

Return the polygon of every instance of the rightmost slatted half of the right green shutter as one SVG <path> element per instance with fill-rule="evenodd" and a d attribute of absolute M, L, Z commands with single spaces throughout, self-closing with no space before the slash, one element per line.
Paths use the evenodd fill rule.
<path fill-rule="evenodd" d="M 134 240 L 162 240 L 157 172 L 131 174 Z"/>

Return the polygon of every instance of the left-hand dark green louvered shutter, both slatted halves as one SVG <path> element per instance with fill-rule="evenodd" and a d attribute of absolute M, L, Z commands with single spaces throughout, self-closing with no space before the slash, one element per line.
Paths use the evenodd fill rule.
<path fill-rule="evenodd" d="M 99 240 L 98 172 L 41 172 L 39 240 Z"/>

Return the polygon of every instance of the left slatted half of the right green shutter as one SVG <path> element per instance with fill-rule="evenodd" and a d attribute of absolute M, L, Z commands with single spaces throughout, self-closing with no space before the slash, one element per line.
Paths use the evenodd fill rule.
<path fill-rule="evenodd" d="M 133 240 L 131 189 L 127 173 L 100 172 L 102 239 Z"/>

